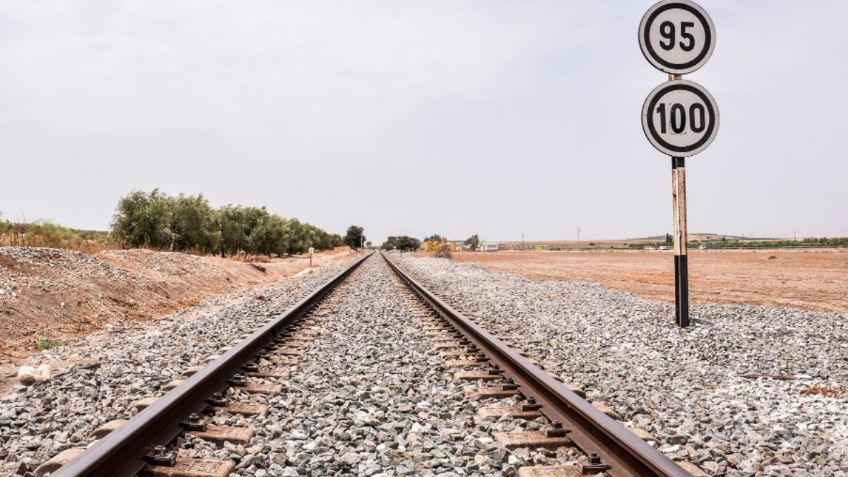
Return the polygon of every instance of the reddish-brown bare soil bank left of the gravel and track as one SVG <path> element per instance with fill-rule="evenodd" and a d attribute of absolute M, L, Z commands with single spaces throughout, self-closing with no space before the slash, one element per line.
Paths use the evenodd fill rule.
<path fill-rule="evenodd" d="M 314 267 L 345 260 L 347 247 L 315 254 Z M 213 295 L 302 273 L 308 256 L 256 264 L 184 253 L 106 250 L 85 255 L 0 247 L 0 372 L 36 353 L 36 341 L 63 342 L 108 324 L 147 321 Z"/>

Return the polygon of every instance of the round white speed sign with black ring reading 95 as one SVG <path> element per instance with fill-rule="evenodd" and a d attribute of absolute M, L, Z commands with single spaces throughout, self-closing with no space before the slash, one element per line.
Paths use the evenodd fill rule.
<path fill-rule="evenodd" d="M 689 0 L 663 0 L 639 24 L 639 46 L 655 68 L 674 75 L 691 73 L 710 59 L 715 27 L 707 12 Z"/>

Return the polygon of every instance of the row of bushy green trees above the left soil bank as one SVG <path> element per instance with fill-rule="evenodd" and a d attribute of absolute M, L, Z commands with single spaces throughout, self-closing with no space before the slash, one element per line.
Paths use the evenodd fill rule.
<path fill-rule="evenodd" d="M 283 255 L 326 250 L 344 243 L 337 234 L 265 207 L 226 205 L 214 208 L 196 196 L 133 191 L 118 201 L 112 234 L 123 247 L 192 250 L 221 256 L 248 253 Z"/>

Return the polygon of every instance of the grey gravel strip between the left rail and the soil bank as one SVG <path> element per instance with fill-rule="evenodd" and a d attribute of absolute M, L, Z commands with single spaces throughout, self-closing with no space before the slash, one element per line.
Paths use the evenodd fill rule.
<path fill-rule="evenodd" d="M 254 331 L 343 267 L 222 295 L 156 322 L 107 327 L 31 358 L 78 365 L 43 384 L 18 385 L 0 398 L 0 475 L 33 470 L 62 450 L 88 442 L 101 424 L 131 417 L 131 403 L 163 394 L 160 387 L 184 369 Z"/>

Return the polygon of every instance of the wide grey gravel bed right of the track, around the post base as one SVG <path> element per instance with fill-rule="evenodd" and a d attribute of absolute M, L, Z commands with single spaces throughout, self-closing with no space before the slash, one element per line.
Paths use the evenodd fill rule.
<path fill-rule="evenodd" d="M 393 254 L 489 331 L 711 475 L 848 475 L 848 328 L 840 315 L 673 305 Z M 829 391 L 836 396 L 828 397 Z M 824 394 L 822 394 L 824 393 Z"/>

